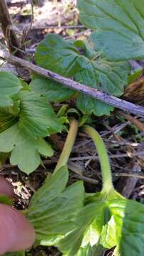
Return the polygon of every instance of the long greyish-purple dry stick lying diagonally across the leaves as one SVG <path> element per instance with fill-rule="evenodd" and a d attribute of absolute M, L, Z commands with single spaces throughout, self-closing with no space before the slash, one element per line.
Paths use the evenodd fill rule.
<path fill-rule="evenodd" d="M 109 105 L 112 105 L 113 107 L 117 107 L 120 110 L 125 110 L 133 114 L 140 114 L 140 116 L 144 117 L 144 107 L 135 105 L 131 102 L 127 102 L 126 100 L 118 99 L 117 97 L 106 94 L 105 92 L 100 92 L 99 90 L 96 90 L 92 87 L 80 84 L 79 82 L 75 82 L 72 79 L 64 78 L 61 75 L 53 73 L 50 70 L 40 68 L 39 66 L 34 65 L 28 62 L 27 60 L 22 60 L 21 58 L 17 58 L 13 55 L 10 55 L 6 51 L 0 51 L 0 58 L 7 60 L 9 63 L 13 65 L 18 65 L 23 68 L 27 68 L 28 70 L 31 70 L 38 75 L 42 75 L 45 78 L 54 80 L 56 82 L 60 82 L 60 84 L 65 85 L 70 89 L 82 92 L 87 96 L 91 96 L 97 100 L 101 100 L 101 102 L 105 102 Z"/>

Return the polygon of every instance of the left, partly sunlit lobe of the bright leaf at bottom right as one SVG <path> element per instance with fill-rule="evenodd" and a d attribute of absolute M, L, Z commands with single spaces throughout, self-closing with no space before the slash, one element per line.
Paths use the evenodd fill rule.
<path fill-rule="evenodd" d="M 79 211 L 74 219 L 77 228 L 57 244 L 63 255 L 79 255 L 82 248 L 93 247 L 99 242 L 105 207 L 105 203 L 91 203 Z"/>

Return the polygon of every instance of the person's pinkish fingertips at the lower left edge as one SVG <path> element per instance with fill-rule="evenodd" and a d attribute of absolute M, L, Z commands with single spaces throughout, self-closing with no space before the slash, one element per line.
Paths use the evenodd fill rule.
<path fill-rule="evenodd" d="M 13 186 L 0 177 L 0 193 L 13 197 Z M 26 250 L 33 245 L 35 231 L 18 210 L 0 203 L 0 255 Z"/>

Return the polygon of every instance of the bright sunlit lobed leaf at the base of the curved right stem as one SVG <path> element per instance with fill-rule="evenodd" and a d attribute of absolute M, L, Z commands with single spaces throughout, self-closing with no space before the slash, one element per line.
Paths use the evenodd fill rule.
<path fill-rule="evenodd" d="M 93 201 L 77 213 L 73 220 L 77 228 L 54 242 L 62 255 L 90 256 L 99 245 L 105 249 L 116 246 L 114 256 L 143 255 L 144 207 L 138 202 L 118 198 L 118 193 L 116 197 Z"/>

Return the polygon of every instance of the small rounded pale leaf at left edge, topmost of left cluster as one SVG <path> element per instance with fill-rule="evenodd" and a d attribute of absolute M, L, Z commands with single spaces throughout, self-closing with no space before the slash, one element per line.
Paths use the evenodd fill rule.
<path fill-rule="evenodd" d="M 21 82 L 12 73 L 0 71 L 0 107 L 13 105 L 12 96 L 21 90 Z"/>

